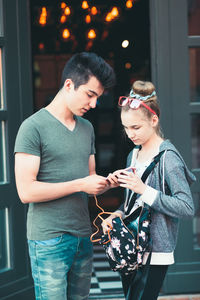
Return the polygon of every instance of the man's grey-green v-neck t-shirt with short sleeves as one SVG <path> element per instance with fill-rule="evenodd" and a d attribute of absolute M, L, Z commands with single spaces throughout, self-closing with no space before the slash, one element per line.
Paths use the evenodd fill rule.
<path fill-rule="evenodd" d="M 40 156 L 38 181 L 65 182 L 89 175 L 89 157 L 95 153 L 93 126 L 81 117 L 75 116 L 75 120 L 70 131 L 43 108 L 20 126 L 14 152 Z M 29 204 L 28 239 L 47 240 L 62 233 L 91 234 L 86 193 Z"/>

